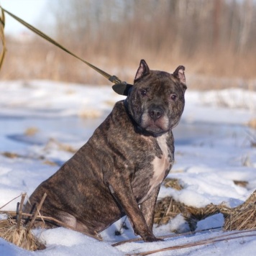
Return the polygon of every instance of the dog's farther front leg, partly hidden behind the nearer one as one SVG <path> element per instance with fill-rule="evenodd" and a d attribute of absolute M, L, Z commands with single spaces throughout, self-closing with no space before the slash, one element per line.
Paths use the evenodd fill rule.
<path fill-rule="evenodd" d="M 140 210 L 142 211 L 143 216 L 145 217 L 147 227 L 152 231 L 154 214 L 155 214 L 155 204 L 157 202 L 157 196 L 160 191 L 160 185 L 155 187 L 154 190 L 150 193 L 150 198 L 147 198 L 142 204 L 140 204 Z"/>

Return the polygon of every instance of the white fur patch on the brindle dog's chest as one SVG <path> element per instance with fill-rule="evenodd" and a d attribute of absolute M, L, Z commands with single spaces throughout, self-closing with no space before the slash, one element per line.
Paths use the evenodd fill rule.
<path fill-rule="evenodd" d="M 163 178 L 165 177 L 165 170 L 170 168 L 170 164 L 172 164 L 170 163 L 170 159 L 168 157 L 169 152 L 166 137 L 167 134 L 163 134 L 162 136 L 157 137 L 157 142 L 160 149 L 162 150 L 162 155 L 161 158 L 155 157 L 155 159 L 152 161 L 154 174 L 152 176 L 152 179 L 150 180 L 150 189 L 149 191 L 147 191 L 147 195 L 142 198 L 140 202 L 145 201 L 145 199 L 147 199 L 147 197 L 150 195 L 153 188 L 158 186 L 163 181 Z"/>

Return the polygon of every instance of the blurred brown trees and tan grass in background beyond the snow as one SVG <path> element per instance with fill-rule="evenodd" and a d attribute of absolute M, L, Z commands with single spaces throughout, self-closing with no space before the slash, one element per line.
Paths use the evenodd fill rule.
<path fill-rule="evenodd" d="M 204 83 L 196 77 L 218 77 L 224 86 L 232 86 L 229 79 L 256 76 L 255 4 L 253 0 L 56 0 L 49 1 L 47 10 L 53 25 L 45 27 L 42 16 L 37 27 L 130 83 L 144 58 L 152 69 L 173 71 L 185 65 L 193 86 Z M 36 36 L 27 42 L 9 38 L 7 47 L 2 78 L 107 83 Z"/>

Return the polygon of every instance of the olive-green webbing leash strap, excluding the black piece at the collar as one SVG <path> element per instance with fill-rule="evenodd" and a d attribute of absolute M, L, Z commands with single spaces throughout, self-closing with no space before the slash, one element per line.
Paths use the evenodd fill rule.
<path fill-rule="evenodd" d="M 94 70 L 96 70 L 98 73 L 100 73 L 102 76 L 104 76 L 105 78 L 109 79 L 109 81 L 111 81 L 112 83 L 118 84 L 118 83 L 126 83 L 126 82 L 122 82 L 118 77 L 116 76 L 111 76 L 108 73 L 106 73 L 104 70 L 101 70 L 99 68 L 97 68 L 95 65 L 92 65 L 91 63 L 88 63 L 86 60 L 83 60 L 82 58 L 78 57 L 77 55 L 75 55 L 73 52 L 70 52 L 70 50 L 68 50 L 67 48 L 63 47 L 63 45 L 60 45 L 58 42 L 56 42 L 55 40 L 53 40 L 51 37 L 45 35 L 43 32 L 41 32 L 39 29 L 36 29 L 35 27 L 33 27 L 32 25 L 28 24 L 27 22 L 24 22 L 23 19 L 20 19 L 19 17 L 15 16 L 14 14 L 12 14 L 11 12 L 8 12 L 6 9 L 4 9 L 3 7 L 1 7 L 2 10 L 2 20 L 1 20 L 1 24 L 0 24 L 0 34 L 1 34 L 1 40 L 3 42 L 4 48 L 5 48 L 5 43 L 4 43 L 4 12 L 6 12 L 7 14 L 9 14 L 11 17 L 13 17 L 14 19 L 16 19 L 18 22 L 22 23 L 25 27 L 27 27 L 28 29 L 32 30 L 32 32 L 35 32 L 37 35 L 39 35 L 40 37 L 44 38 L 45 40 L 47 40 L 48 42 L 51 42 L 53 45 L 59 47 L 60 49 L 64 50 L 65 52 L 68 52 L 70 55 L 72 55 L 73 57 L 77 58 L 78 60 L 81 60 L 83 63 L 86 63 L 86 65 L 88 65 L 89 67 L 93 68 Z M 3 51 L 4 52 L 4 51 Z M 2 58 L 3 60 L 4 58 Z M 0 68 L 1 68 L 1 64 L 3 61 L 1 61 L 0 63 Z"/>

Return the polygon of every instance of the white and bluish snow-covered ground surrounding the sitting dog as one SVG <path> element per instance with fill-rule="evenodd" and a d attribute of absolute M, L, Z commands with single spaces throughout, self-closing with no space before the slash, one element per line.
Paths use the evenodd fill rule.
<path fill-rule="evenodd" d="M 111 86 L 78 86 L 51 81 L 13 81 L 0 83 L 0 207 L 34 189 L 58 170 L 59 165 L 83 145 L 93 130 L 123 99 Z M 159 198 L 173 196 L 190 206 L 220 204 L 237 206 L 256 188 L 256 132 L 246 124 L 256 118 L 256 93 L 242 89 L 188 91 L 183 118 L 175 128 L 175 165 L 168 175 L 178 178 L 181 191 L 161 188 Z M 233 180 L 247 181 L 246 188 Z M 4 207 L 15 210 L 16 201 Z M 3 217 L 3 216 L 2 216 Z M 198 222 L 196 230 L 221 227 L 221 214 Z M 195 243 L 223 234 L 221 229 L 183 234 L 164 242 L 111 244 L 134 238 L 132 228 L 120 229 L 116 222 L 101 233 L 104 242 L 64 228 L 37 230 L 46 249 L 27 252 L 0 239 L 0 255 L 125 255 Z M 169 224 L 154 227 L 157 236 L 186 232 L 181 216 Z M 158 252 L 154 255 L 254 255 L 255 237 L 227 239 L 222 242 Z"/>

